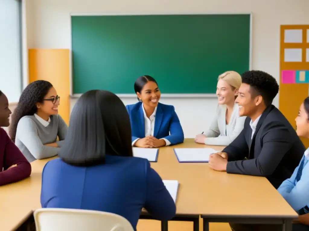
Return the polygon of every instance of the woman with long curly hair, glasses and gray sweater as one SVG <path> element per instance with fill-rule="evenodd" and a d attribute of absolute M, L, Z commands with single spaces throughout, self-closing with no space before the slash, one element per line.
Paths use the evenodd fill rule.
<path fill-rule="evenodd" d="M 9 134 L 29 162 L 58 154 L 67 131 L 58 115 L 59 100 L 53 85 L 44 80 L 30 83 L 20 95 Z"/>

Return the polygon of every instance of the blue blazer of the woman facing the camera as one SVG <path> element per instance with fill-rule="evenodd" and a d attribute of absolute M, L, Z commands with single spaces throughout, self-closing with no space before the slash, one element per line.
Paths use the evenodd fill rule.
<path fill-rule="evenodd" d="M 145 120 L 142 102 L 125 106 L 130 116 L 132 140 L 145 137 Z M 170 134 L 171 133 L 171 134 Z M 171 144 L 184 142 L 184 131 L 175 112 L 175 107 L 158 103 L 155 116 L 154 137 L 157 139 L 165 138 Z"/>

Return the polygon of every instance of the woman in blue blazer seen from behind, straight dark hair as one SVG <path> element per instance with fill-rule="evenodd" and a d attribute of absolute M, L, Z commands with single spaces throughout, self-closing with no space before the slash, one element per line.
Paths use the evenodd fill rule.
<path fill-rule="evenodd" d="M 142 208 L 157 220 L 175 216 L 158 173 L 133 157 L 129 115 L 113 93 L 93 90 L 78 99 L 58 156 L 43 169 L 42 208 L 116 213 L 134 229 Z"/>

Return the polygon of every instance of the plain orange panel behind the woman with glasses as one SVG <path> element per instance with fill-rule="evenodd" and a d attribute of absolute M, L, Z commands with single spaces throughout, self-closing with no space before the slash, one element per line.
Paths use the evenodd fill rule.
<path fill-rule="evenodd" d="M 59 114 L 69 124 L 70 119 L 70 50 L 29 49 L 29 83 L 46 80 L 60 96 Z"/>

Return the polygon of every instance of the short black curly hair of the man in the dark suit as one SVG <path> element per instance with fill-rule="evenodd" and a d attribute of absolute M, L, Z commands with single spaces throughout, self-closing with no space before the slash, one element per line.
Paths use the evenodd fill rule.
<path fill-rule="evenodd" d="M 267 106 L 273 103 L 273 99 L 279 92 L 276 79 L 264 71 L 245 71 L 242 75 L 242 83 L 250 85 L 252 97 L 261 95 Z"/>

